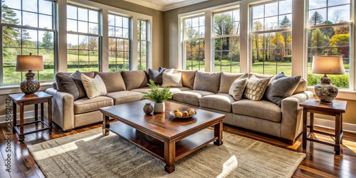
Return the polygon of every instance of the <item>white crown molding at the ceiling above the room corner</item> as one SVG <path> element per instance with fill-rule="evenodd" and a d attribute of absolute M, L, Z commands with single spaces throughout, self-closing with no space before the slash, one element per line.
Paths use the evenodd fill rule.
<path fill-rule="evenodd" d="M 200 2 L 204 2 L 204 1 L 208 1 L 208 0 L 183 0 L 177 3 L 173 3 L 173 4 L 168 4 L 168 5 L 164 5 L 164 4 L 157 4 L 157 3 L 153 3 L 153 2 L 149 2 L 149 1 L 142 1 L 142 0 L 124 0 L 124 1 L 128 1 L 130 3 L 133 4 L 138 4 L 140 6 L 145 6 L 151 9 L 156 9 L 159 11 L 169 11 L 172 9 L 177 9 L 179 7 L 183 7 L 183 6 L 189 6 L 192 4 L 197 4 Z M 151 0 L 152 1 L 152 0 Z"/>

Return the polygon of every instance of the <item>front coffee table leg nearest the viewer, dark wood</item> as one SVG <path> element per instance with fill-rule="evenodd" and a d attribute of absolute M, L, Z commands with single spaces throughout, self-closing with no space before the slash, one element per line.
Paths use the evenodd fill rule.
<path fill-rule="evenodd" d="M 164 141 L 164 170 L 169 174 L 176 169 L 174 162 L 176 162 L 176 143 L 175 141 Z"/>

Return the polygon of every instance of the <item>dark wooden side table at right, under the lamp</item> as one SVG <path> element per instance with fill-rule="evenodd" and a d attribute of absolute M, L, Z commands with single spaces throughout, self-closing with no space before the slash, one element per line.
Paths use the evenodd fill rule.
<path fill-rule="evenodd" d="M 299 105 L 303 107 L 303 148 L 307 146 L 308 140 L 333 146 L 335 148 L 335 154 L 340 155 L 340 145 L 342 144 L 342 135 L 344 134 L 344 132 L 342 132 L 342 113 L 345 113 L 347 101 L 333 100 L 333 105 L 327 105 L 321 104 L 319 100 L 309 99 Z M 310 112 L 310 125 L 307 123 L 308 112 Z M 335 116 L 335 135 L 314 130 L 314 113 Z M 309 133 L 307 133 L 307 127 L 310 128 Z M 335 137 L 335 143 L 309 138 L 313 132 Z"/>

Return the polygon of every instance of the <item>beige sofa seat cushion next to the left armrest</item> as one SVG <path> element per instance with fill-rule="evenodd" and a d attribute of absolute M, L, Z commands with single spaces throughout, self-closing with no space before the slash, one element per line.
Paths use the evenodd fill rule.
<path fill-rule="evenodd" d="M 91 99 L 81 98 L 74 101 L 74 114 L 91 112 L 110 105 L 114 105 L 114 100 L 106 96 L 98 96 Z"/>

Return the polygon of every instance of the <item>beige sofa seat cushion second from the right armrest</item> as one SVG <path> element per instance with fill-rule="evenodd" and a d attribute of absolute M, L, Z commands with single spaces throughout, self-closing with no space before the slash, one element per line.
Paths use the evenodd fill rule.
<path fill-rule="evenodd" d="M 200 98 L 200 107 L 231 112 L 231 104 L 235 101 L 231 95 L 226 93 L 206 95 Z"/>

